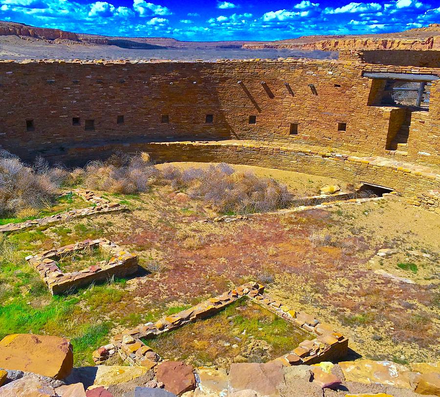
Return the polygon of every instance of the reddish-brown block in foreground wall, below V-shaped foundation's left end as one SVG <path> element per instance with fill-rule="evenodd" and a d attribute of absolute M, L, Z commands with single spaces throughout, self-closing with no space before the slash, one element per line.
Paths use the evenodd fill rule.
<path fill-rule="evenodd" d="M 165 385 L 165 389 L 177 396 L 194 390 L 196 378 L 193 367 L 182 361 L 165 361 L 157 366 L 156 378 Z"/>

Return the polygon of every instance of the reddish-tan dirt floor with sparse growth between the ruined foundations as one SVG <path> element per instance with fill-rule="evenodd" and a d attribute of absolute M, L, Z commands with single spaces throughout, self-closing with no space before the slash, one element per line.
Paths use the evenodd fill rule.
<path fill-rule="evenodd" d="M 195 164 L 180 164 L 190 165 Z M 299 173 L 237 167 L 286 182 L 297 193 L 337 183 Z M 140 195 L 107 195 L 126 204 L 130 212 L 49 227 L 30 243 L 27 252 L 38 252 L 79 238 L 106 237 L 137 253 L 142 266 L 136 277 L 111 285 L 111 294 L 101 287 L 78 292 L 75 310 L 59 321 L 60 327 L 44 323 L 39 332 L 72 337 L 76 330 L 72 324 L 110 323 L 101 339 L 87 342 L 91 352 L 129 326 L 256 280 L 295 310 L 337 325 L 350 338 L 352 358 L 402 363 L 438 359 L 438 215 L 394 196 L 213 222 L 214 211 L 177 193 L 162 186 Z M 397 252 L 381 258 L 376 253 L 382 248 Z M 43 310 L 50 299 L 54 298 L 44 296 L 31 303 Z"/>

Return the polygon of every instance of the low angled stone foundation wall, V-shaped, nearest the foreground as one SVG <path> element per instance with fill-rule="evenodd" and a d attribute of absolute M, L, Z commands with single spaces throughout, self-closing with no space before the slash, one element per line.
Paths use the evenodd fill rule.
<path fill-rule="evenodd" d="M 296 312 L 282 302 L 264 294 L 264 286 L 249 282 L 224 294 L 183 310 L 156 322 L 141 324 L 132 330 L 113 337 L 109 345 L 102 346 L 93 353 L 95 363 L 106 361 L 116 352 L 131 365 L 154 368 L 161 358 L 147 346 L 141 338 L 153 338 L 200 319 L 209 318 L 227 305 L 241 298 L 250 298 L 284 320 L 315 335 L 312 340 L 304 340 L 290 352 L 274 361 L 284 366 L 314 364 L 321 361 L 340 359 L 347 354 L 348 338 L 328 323 L 323 323 L 311 315 Z"/>

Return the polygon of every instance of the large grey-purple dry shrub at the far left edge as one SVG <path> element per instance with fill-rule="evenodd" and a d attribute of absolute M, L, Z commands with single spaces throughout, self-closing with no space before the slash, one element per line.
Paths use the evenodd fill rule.
<path fill-rule="evenodd" d="M 0 150 L 0 216 L 16 216 L 24 209 L 30 213 L 30 209 L 47 207 L 66 178 L 66 170 L 49 167 L 42 158 L 29 167 L 9 152 Z"/>

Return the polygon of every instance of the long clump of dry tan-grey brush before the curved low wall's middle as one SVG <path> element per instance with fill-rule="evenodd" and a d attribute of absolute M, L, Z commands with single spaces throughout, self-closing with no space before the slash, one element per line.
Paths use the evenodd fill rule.
<path fill-rule="evenodd" d="M 118 154 L 106 162 L 92 161 L 86 166 L 84 180 L 90 189 L 123 194 L 146 192 L 154 184 L 171 185 L 220 213 L 272 211 L 286 207 L 292 198 L 286 185 L 251 172 L 235 171 L 224 163 L 210 165 L 206 170 L 181 170 L 172 165 L 158 170 L 147 153 L 135 157 Z"/>

